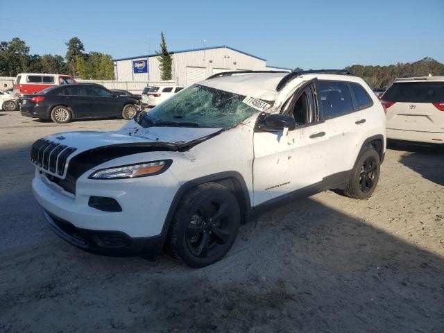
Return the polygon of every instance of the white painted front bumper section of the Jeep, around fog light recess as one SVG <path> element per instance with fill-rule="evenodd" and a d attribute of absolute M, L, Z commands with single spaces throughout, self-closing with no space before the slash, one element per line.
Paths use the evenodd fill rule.
<path fill-rule="evenodd" d="M 162 234 L 169 207 L 179 187 L 172 173 L 165 171 L 158 176 L 128 180 L 90 180 L 87 176 L 89 173 L 76 181 L 74 195 L 36 169 L 32 182 L 34 197 L 50 216 L 81 230 L 122 232 L 131 238 Z M 116 200 L 121 212 L 90 206 L 89 198 L 92 196 Z"/>

